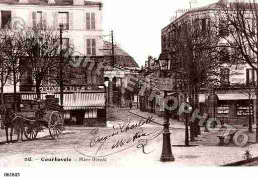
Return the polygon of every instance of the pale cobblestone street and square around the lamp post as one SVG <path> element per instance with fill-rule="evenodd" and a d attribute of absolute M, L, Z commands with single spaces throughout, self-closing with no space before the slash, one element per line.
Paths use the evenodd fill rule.
<path fill-rule="evenodd" d="M 152 115 L 140 113 L 138 109 L 130 112 L 145 118 Z M 218 146 L 219 140 L 216 133 L 202 132 L 197 141 L 190 143 L 193 146 L 184 147 L 184 124 L 170 120 L 171 145 L 176 160 L 175 162 L 161 163 L 159 157 L 162 150 L 162 126 L 156 123 L 144 123 L 146 119 L 130 112 L 129 109 L 109 110 L 107 128 L 99 128 L 97 131 L 96 127 L 66 127 L 64 134 L 58 140 L 52 140 L 48 135 L 48 130 L 45 130 L 44 133 L 40 132 L 37 140 L 23 141 L 22 143 L 5 145 L 3 142 L 5 137 L 1 137 L 0 166 L 158 167 L 160 165 L 223 165 L 242 160 L 245 147 L 228 144 L 228 140 L 226 140 L 225 146 Z M 162 118 L 156 116 L 153 118 L 157 123 L 162 123 Z M 130 128 L 126 130 L 129 121 Z M 136 127 L 139 122 L 142 125 Z M 119 134 L 114 134 L 117 129 L 114 129 L 113 126 L 119 128 L 119 125 L 123 124 L 125 125 L 123 132 L 119 129 Z M 131 126 L 132 124 L 134 127 Z M 146 134 L 148 134 L 146 136 L 148 141 L 139 143 L 138 140 L 145 139 L 144 135 Z M 258 156 L 255 151 L 258 149 L 257 144 L 248 144 L 247 147 L 251 148 L 253 157 Z M 97 158 L 93 159 L 91 156 Z M 32 161 L 27 160 L 30 157 Z M 52 158 L 62 159 L 49 161 L 56 160 Z M 65 159 L 68 161 L 64 161 Z"/>

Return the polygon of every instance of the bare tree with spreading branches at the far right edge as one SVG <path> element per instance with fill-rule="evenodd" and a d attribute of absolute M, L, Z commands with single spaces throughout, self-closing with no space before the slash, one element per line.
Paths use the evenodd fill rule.
<path fill-rule="evenodd" d="M 215 12 L 219 22 L 223 41 L 234 51 L 235 64 L 247 64 L 258 75 L 258 4 L 249 2 L 224 1 Z M 255 94 L 258 95 L 258 78 L 256 78 Z M 256 98 L 258 104 L 258 98 Z M 256 124 L 258 111 L 256 111 Z M 258 126 L 256 126 L 256 142 L 258 142 Z"/>

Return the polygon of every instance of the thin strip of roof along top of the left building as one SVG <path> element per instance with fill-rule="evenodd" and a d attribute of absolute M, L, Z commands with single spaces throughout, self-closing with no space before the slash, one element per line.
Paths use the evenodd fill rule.
<path fill-rule="evenodd" d="M 0 0 L 0 3 L 18 4 L 19 0 Z M 48 0 L 28 0 L 28 4 L 47 5 Z M 73 0 L 55 0 L 54 5 L 73 5 Z M 84 6 L 102 6 L 101 2 L 84 1 Z"/>

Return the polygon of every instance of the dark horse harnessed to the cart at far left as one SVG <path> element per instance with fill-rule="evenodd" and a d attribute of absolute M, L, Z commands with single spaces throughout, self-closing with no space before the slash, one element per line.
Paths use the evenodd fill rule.
<path fill-rule="evenodd" d="M 21 142 L 23 140 L 23 120 L 13 111 L 13 109 L 8 109 L 5 105 L 0 107 L 0 113 L 2 115 L 2 121 L 6 130 L 6 144 L 12 143 L 13 141 L 13 131 L 17 132 L 17 140 Z M 10 141 L 9 141 L 9 128 Z M 21 139 L 20 139 L 21 134 Z"/>

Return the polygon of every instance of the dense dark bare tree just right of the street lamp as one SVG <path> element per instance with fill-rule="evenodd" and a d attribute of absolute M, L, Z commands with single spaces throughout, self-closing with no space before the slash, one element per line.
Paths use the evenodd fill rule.
<path fill-rule="evenodd" d="M 193 110 L 199 108 L 199 91 L 213 82 L 218 82 L 221 65 L 218 58 L 219 39 L 210 28 L 209 14 L 186 16 L 174 24 L 169 34 L 169 52 L 173 55 L 174 77 L 178 89 L 189 97 Z M 188 118 L 186 118 L 186 146 L 188 143 Z M 200 134 L 198 121 L 190 122 L 190 139 Z"/>

